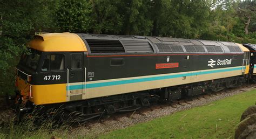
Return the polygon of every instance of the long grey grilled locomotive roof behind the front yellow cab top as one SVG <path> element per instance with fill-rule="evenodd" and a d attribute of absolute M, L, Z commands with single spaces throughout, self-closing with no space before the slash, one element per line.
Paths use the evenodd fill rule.
<path fill-rule="evenodd" d="M 114 36 L 79 33 L 89 53 L 243 53 L 241 44 L 171 37 Z"/>

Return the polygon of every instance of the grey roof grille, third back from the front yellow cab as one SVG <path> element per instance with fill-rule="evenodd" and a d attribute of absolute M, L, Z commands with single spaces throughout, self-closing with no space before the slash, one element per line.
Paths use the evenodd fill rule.
<path fill-rule="evenodd" d="M 170 44 L 157 44 L 160 53 L 178 53 L 184 52 L 180 45 L 170 45 Z"/>

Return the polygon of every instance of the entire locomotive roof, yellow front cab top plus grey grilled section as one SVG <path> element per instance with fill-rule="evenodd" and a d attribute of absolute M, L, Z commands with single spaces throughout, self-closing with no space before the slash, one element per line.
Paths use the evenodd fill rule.
<path fill-rule="evenodd" d="M 39 51 L 88 51 L 107 53 L 243 53 L 241 44 L 171 37 L 118 36 L 83 33 L 46 33 L 35 36 L 29 46 Z"/>

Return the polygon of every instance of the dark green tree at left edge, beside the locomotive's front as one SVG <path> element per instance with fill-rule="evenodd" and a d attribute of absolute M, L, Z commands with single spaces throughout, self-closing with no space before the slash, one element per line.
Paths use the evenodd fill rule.
<path fill-rule="evenodd" d="M 0 2 L 2 34 L 0 35 L 0 93 L 14 89 L 15 66 L 25 45 L 36 31 L 53 27 L 49 5 L 51 0 L 15 0 Z M 53 30 L 54 31 L 54 30 Z"/>

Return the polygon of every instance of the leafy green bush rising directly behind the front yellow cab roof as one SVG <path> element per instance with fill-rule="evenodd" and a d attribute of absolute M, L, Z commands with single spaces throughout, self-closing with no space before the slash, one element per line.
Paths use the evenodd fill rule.
<path fill-rule="evenodd" d="M 91 25 L 91 11 L 91 3 L 86 0 L 60 0 L 55 12 L 59 30 L 87 32 Z"/>

